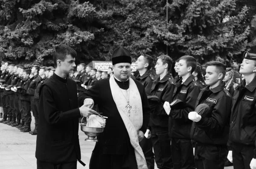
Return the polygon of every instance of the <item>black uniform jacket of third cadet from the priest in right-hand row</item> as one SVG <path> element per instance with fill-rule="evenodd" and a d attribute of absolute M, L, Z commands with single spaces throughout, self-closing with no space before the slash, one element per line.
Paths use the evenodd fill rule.
<path fill-rule="evenodd" d="M 169 114 L 169 135 L 172 138 L 190 139 L 190 129 L 192 121 L 189 120 L 189 112 L 195 110 L 196 99 L 200 89 L 193 75 L 182 83 L 180 79 L 174 89 L 172 100 L 180 99 L 184 106 L 180 109 L 172 109 Z"/>

